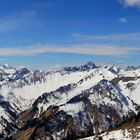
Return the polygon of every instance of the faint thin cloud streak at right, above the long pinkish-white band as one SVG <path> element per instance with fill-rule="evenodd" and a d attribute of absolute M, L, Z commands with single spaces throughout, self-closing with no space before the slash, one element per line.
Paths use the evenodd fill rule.
<path fill-rule="evenodd" d="M 75 39 L 94 41 L 94 40 L 108 40 L 108 41 L 140 41 L 140 33 L 125 33 L 113 35 L 82 35 L 78 33 L 72 34 Z"/>

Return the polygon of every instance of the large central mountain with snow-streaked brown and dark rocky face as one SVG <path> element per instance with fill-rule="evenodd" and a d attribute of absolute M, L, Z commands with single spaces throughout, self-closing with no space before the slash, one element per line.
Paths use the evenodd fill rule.
<path fill-rule="evenodd" d="M 40 122 L 30 126 L 30 121 L 44 118 L 41 126 L 48 127 L 44 130 L 49 133 L 48 138 L 72 139 L 73 135 L 80 138 L 107 131 L 136 115 L 135 106 L 117 85 L 105 79 L 97 81 L 92 74 L 77 83 L 44 93 L 34 102 L 31 110 L 23 112 L 18 120 L 20 123 L 27 122 L 24 125 L 31 129 L 35 127 L 32 136 L 36 136 L 40 131 L 37 126 Z M 65 125 L 60 126 L 60 122 Z M 19 139 L 28 127 L 18 134 Z M 68 129 L 67 133 L 65 129 Z"/>

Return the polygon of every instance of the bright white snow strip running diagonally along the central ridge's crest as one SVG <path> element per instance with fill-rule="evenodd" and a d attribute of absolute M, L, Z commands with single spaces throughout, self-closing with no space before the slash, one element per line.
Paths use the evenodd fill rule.
<path fill-rule="evenodd" d="M 104 68 L 97 68 L 94 69 L 92 71 L 89 72 L 89 74 L 87 74 L 86 76 L 84 76 L 81 80 L 79 80 L 77 83 L 74 84 L 70 84 L 67 85 L 65 87 L 62 87 L 61 91 L 65 91 L 65 88 L 70 88 L 69 89 L 69 93 L 61 93 L 61 92 L 57 92 L 57 99 L 53 99 L 50 98 L 49 103 L 45 103 L 45 105 L 43 105 L 44 110 L 46 110 L 48 108 L 48 106 L 52 105 L 61 105 L 66 103 L 68 100 L 70 100 L 71 98 L 73 98 L 74 96 L 80 94 L 83 90 L 89 89 L 92 86 L 98 84 L 98 82 L 100 82 L 102 79 L 113 79 L 115 77 L 114 74 L 112 74 L 110 71 L 104 69 Z M 46 95 L 51 94 L 53 95 L 53 93 L 46 93 Z M 56 96 L 56 95 L 55 95 Z M 40 106 L 40 104 L 38 105 Z"/>

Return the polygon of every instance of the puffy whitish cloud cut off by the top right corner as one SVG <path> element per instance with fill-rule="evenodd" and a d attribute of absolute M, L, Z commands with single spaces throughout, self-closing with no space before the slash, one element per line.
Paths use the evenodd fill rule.
<path fill-rule="evenodd" d="M 140 0 L 120 0 L 121 3 L 123 3 L 125 6 L 138 6 L 140 7 Z"/>

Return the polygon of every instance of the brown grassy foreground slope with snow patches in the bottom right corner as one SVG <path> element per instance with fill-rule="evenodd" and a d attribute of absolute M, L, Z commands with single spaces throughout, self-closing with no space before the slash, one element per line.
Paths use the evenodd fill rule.
<path fill-rule="evenodd" d="M 140 113 L 116 129 L 99 135 L 82 138 L 80 140 L 139 140 L 140 139 Z"/>

